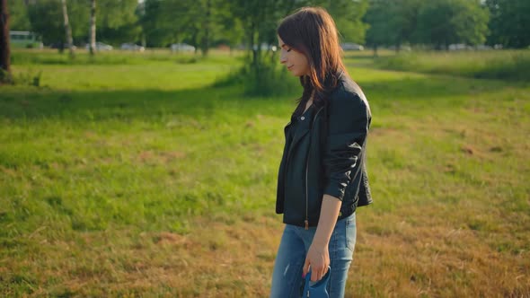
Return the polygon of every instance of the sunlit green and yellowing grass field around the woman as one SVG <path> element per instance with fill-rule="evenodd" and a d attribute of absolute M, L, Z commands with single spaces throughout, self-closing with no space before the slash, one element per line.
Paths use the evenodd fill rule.
<path fill-rule="evenodd" d="M 0 87 L 0 296 L 268 295 L 296 93 L 212 87 L 241 55 L 14 55 L 41 87 Z M 530 83 L 346 63 L 375 198 L 347 297 L 530 296 Z"/>

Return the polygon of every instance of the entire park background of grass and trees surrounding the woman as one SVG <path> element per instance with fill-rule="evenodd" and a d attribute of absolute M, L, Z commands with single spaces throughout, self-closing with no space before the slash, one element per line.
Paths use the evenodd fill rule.
<path fill-rule="evenodd" d="M 267 296 L 304 5 L 373 113 L 346 296 L 530 296 L 528 1 L 2 3 L 1 296 Z"/>

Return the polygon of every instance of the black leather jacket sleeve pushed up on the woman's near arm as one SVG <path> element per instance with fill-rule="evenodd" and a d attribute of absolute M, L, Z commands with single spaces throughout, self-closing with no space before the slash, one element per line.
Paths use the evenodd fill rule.
<path fill-rule="evenodd" d="M 356 93 L 333 99 L 329 106 L 329 127 L 323 166 L 324 194 L 344 197 L 344 191 L 358 174 L 362 146 L 367 138 L 370 110 Z"/>

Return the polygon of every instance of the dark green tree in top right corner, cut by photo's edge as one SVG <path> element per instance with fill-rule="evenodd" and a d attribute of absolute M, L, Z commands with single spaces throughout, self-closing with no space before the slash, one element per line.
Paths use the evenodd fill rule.
<path fill-rule="evenodd" d="M 490 45 L 510 48 L 530 45 L 530 1 L 486 0 L 490 10 Z"/>

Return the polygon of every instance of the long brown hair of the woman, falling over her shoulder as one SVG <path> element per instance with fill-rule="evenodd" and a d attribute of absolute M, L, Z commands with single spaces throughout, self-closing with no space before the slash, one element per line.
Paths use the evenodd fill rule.
<path fill-rule="evenodd" d="M 321 7 L 302 7 L 283 19 L 277 32 L 290 48 L 305 55 L 310 66 L 309 75 L 300 76 L 304 92 L 293 116 L 304 110 L 312 92 L 314 104 L 325 106 L 340 74 L 346 73 L 339 34 L 330 13 Z"/>

